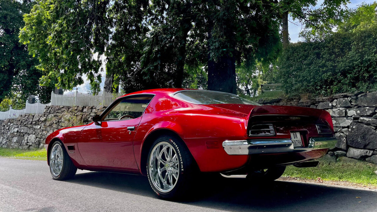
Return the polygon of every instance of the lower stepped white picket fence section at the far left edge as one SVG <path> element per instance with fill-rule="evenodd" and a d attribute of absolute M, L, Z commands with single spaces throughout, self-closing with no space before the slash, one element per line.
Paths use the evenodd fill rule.
<path fill-rule="evenodd" d="M 30 104 L 28 101 L 26 101 L 26 106 L 24 109 L 21 110 L 15 110 L 12 107 L 9 108 L 8 111 L 0 111 L 0 120 L 5 120 L 7 118 L 17 118 L 18 116 L 22 114 L 43 114 L 44 108 L 49 104 L 42 104 L 42 103 L 34 103 Z"/>

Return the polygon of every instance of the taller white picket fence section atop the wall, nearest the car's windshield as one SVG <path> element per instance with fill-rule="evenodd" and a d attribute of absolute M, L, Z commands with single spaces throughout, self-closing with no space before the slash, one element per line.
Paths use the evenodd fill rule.
<path fill-rule="evenodd" d="M 122 93 L 110 93 L 101 91 L 97 95 L 78 92 L 70 92 L 68 94 L 55 94 L 51 92 L 51 105 L 61 106 L 98 106 L 109 105 L 115 98 L 120 97 Z"/>

